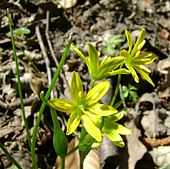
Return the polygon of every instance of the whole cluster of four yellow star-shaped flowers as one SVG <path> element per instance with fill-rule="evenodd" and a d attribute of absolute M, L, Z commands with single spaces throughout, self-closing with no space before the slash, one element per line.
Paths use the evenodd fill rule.
<path fill-rule="evenodd" d="M 70 99 L 53 98 L 48 101 L 49 106 L 69 115 L 68 135 L 81 127 L 95 142 L 101 142 L 102 137 L 106 136 L 114 144 L 124 145 L 120 135 L 130 134 L 130 131 L 117 123 L 123 115 L 112 106 L 102 103 L 101 98 L 110 87 L 109 81 L 104 79 L 117 74 L 132 74 L 135 82 L 139 82 L 140 75 L 154 85 L 149 77 L 150 70 L 145 65 L 156 59 L 153 54 L 141 51 L 145 44 L 144 29 L 135 41 L 128 31 L 125 31 L 125 35 L 128 50 L 121 50 L 118 56 L 105 56 L 103 59 L 99 57 L 100 53 L 92 44 L 88 44 L 88 56 L 75 45 L 71 45 L 72 51 L 87 65 L 94 85 L 85 93 L 79 74 L 73 72 L 69 86 Z"/>

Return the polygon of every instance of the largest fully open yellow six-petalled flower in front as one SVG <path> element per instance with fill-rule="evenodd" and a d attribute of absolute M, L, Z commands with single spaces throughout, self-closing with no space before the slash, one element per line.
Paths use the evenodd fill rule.
<path fill-rule="evenodd" d="M 102 140 L 102 129 L 97 125 L 97 120 L 102 119 L 102 116 L 110 116 L 117 112 L 112 106 L 99 102 L 109 87 L 110 83 L 105 80 L 95 84 L 94 87 L 85 94 L 79 74 L 73 72 L 70 84 L 71 98 L 54 98 L 48 101 L 52 108 L 68 113 L 68 135 L 74 133 L 81 123 L 88 134 L 96 141 L 100 142 Z"/>

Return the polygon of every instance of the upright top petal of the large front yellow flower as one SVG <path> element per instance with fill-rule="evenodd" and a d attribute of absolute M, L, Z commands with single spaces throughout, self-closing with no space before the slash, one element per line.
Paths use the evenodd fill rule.
<path fill-rule="evenodd" d="M 83 97 L 83 85 L 79 74 L 76 72 L 72 73 L 70 90 L 73 100 L 78 101 L 79 98 Z"/>

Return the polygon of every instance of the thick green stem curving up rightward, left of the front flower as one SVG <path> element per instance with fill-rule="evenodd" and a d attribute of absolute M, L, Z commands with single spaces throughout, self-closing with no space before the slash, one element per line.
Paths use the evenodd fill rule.
<path fill-rule="evenodd" d="M 36 154 L 35 154 L 35 144 L 36 144 L 36 138 L 37 138 L 37 133 L 38 133 L 38 128 L 39 128 L 39 124 L 40 124 L 40 121 L 41 121 L 41 116 L 44 112 L 44 109 L 46 107 L 46 104 L 47 104 L 47 101 L 50 97 L 50 94 L 52 92 L 52 89 L 55 87 L 56 85 L 56 81 L 60 75 L 60 72 L 62 70 L 62 67 L 65 63 L 65 60 L 67 58 L 67 56 L 69 55 L 69 52 L 70 52 L 70 44 L 71 42 L 69 42 L 66 46 L 66 48 L 64 49 L 63 51 L 63 55 L 62 55 L 62 58 L 60 60 L 60 63 L 58 65 L 58 68 L 56 69 L 55 73 L 54 73 L 54 77 L 51 81 L 51 84 L 47 90 L 47 93 L 43 99 L 43 102 L 41 104 L 41 107 L 40 107 L 40 110 L 39 110 L 39 114 L 38 114 L 38 117 L 36 119 L 36 123 L 35 123 L 35 127 L 34 127 L 34 130 L 33 130 L 33 136 L 32 136 L 32 145 L 31 145 L 31 156 L 32 156 L 32 168 L 33 169 L 37 169 L 38 166 L 37 166 L 37 159 L 36 159 Z"/>

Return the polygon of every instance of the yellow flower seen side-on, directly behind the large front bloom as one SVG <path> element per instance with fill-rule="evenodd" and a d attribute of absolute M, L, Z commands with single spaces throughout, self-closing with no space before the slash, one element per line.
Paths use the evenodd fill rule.
<path fill-rule="evenodd" d="M 90 76 L 94 81 L 102 80 L 109 76 L 117 74 L 128 74 L 129 71 L 125 68 L 119 68 L 122 62 L 120 57 L 105 56 L 100 60 L 100 53 L 92 44 L 87 45 L 88 56 L 85 56 L 76 46 L 71 45 L 71 49 L 80 56 L 82 61 L 87 65 Z"/>

